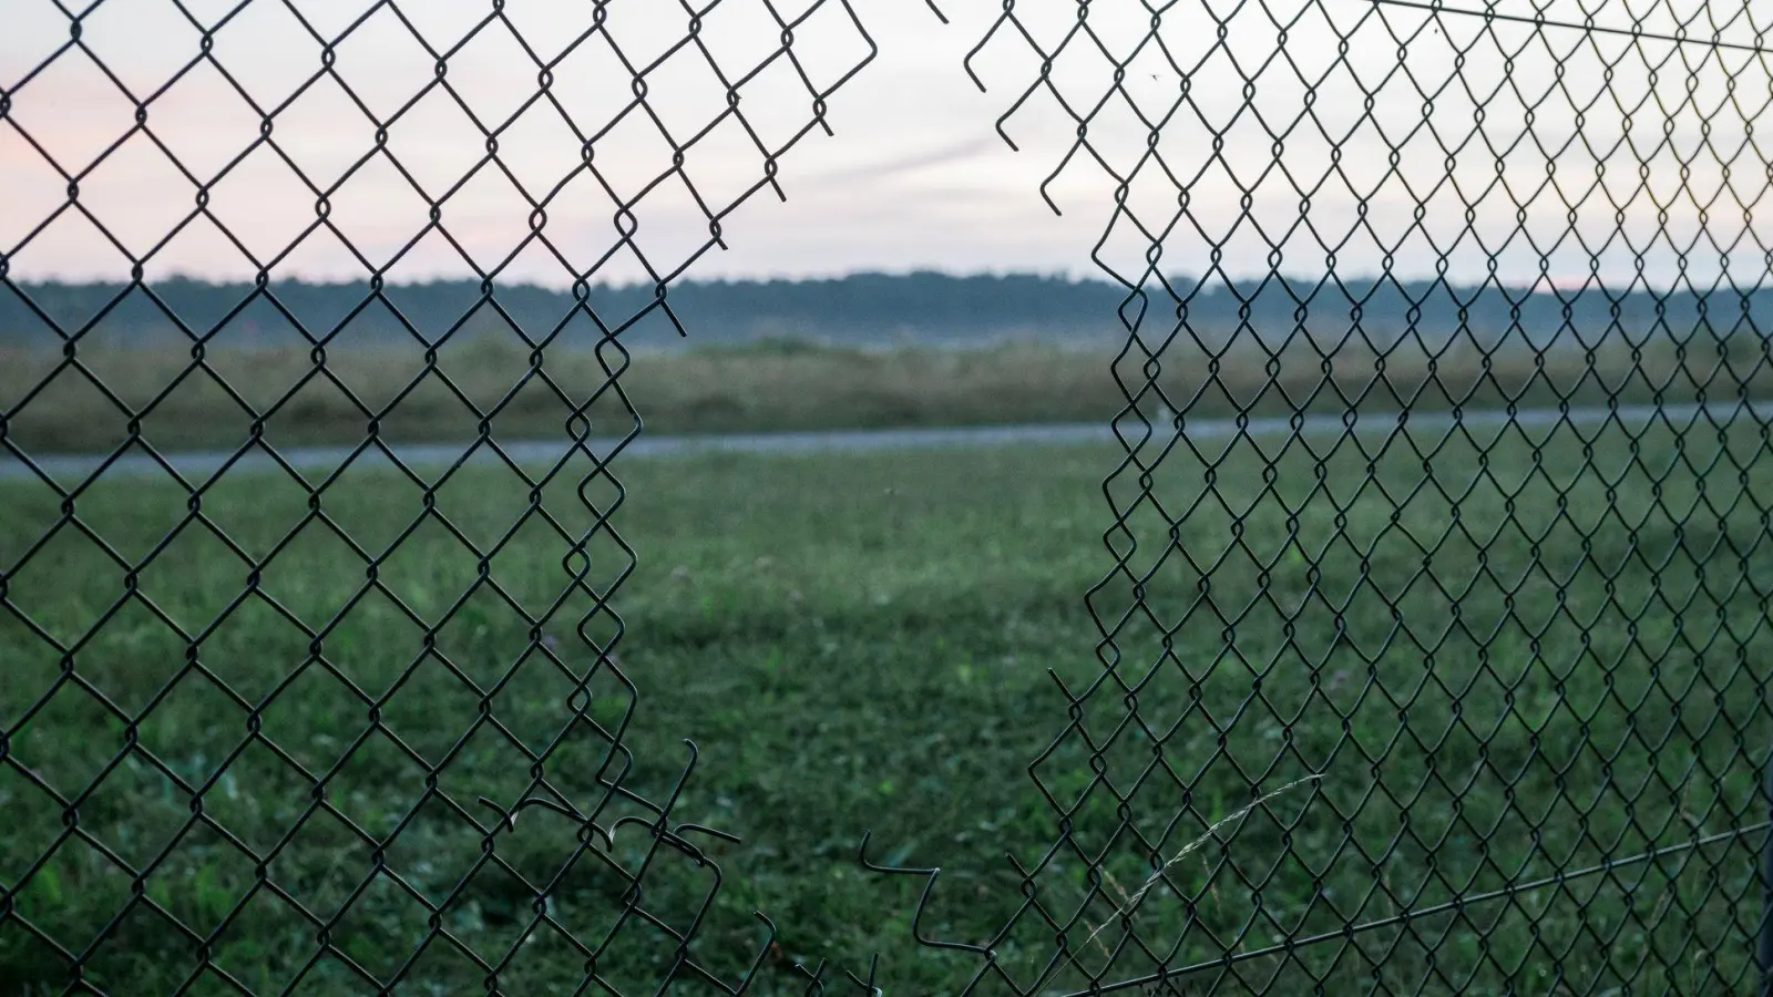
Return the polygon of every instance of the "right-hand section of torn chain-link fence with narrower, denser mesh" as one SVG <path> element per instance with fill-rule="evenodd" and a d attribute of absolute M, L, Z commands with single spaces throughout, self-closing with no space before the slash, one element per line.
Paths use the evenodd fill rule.
<path fill-rule="evenodd" d="M 1124 459 L 1051 844 L 918 935 L 957 990 L 1764 992 L 1769 28 L 1002 5 L 968 67 L 1106 208 Z"/>

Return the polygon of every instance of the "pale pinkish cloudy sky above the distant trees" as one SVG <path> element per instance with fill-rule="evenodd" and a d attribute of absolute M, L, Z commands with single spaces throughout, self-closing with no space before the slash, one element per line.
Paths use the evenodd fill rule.
<path fill-rule="evenodd" d="M 1039 60 L 1014 27 L 1000 28 L 973 64 L 989 85 L 980 94 L 963 57 L 1002 4 L 940 2 L 954 21 L 947 27 L 922 0 L 851 0 L 879 55 L 830 101 L 835 137 L 814 131 L 794 145 L 778 174 L 787 202 L 768 188 L 755 193 L 723 222 L 730 250 L 704 255 L 690 277 L 910 268 L 1099 275 L 1090 252 L 1113 216 L 1113 181 L 1080 153 L 1050 186 L 1064 215 L 1046 208 L 1041 181 L 1071 149 L 1074 124 L 1043 90 L 1005 124 L 1021 145 L 1011 151 L 995 121 L 1037 78 Z M 1261 275 L 1273 266 L 1278 243 L 1280 268 L 1301 275 L 1332 263 L 1344 277 L 1371 275 L 1390 252 L 1404 277 L 1431 277 L 1445 261 L 1450 277 L 1475 280 L 1495 254 L 1509 280 L 1534 280 L 1544 261 L 1551 280 L 1580 284 L 1597 259 L 1608 284 L 1624 286 L 1640 257 L 1649 279 L 1667 284 L 1686 252 L 1686 271 L 1700 286 L 1716 280 L 1725 261 L 1738 284 L 1762 284 L 1773 245 L 1764 220 L 1773 135 L 1752 135 L 1752 122 L 1773 99 L 1773 66 L 1761 50 L 1773 7 L 1755 21 L 1761 5 L 1739 2 L 1720 2 L 1716 11 L 1702 0 L 1491 2 L 1505 16 L 1530 18 L 1537 9 L 1548 21 L 1592 18 L 1603 28 L 1718 37 L 1736 48 L 1571 27 L 1535 35 L 1528 25 L 1486 25 L 1457 12 L 1436 20 L 1395 2 L 1269 0 L 1264 7 L 1252 0 L 1238 7 L 1234 0 L 1188 0 L 1165 11 L 1160 30 L 1186 69 L 1177 75 L 1154 44 L 1140 48 L 1151 23 L 1142 0 L 1094 0 L 1089 23 L 1103 44 L 1117 59 L 1138 55 L 1124 82 L 1131 103 L 1115 96 L 1092 124 L 1090 142 L 1113 169 L 1131 170 L 1151 131 L 1135 105 L 1149 121 L 1163 121 L 1158 151 L 1174 179 L 1147 161 L 1128 193 L 1152 232 L 1168 227 L 1160 236 L 1161 270 L 1202 273 L 1218 245 L 1227 273 Z M 257 259 L 277 259 L 273 277 L 362 279 L 371 268 L 387 268 L 390 280 L 456 277 L 472 271 L 463 252 L 480 268 L 502 266 L 530 231 L 527 199 L 496 165 L 482 163 L 484 133 L 434 85 L 434 60 L 397 16 L 447 50 L 488 16 L 488 0 L 406 0 L 355 28 L 367 0 L 186 0 L 202 23 L 239 7 L 215 32 L 215 60 L 261 106 L 277 108 L 275 147 L 261 145 L 229 167 L 259 137 L 261 115 L 211 64 L 154 96 L 147 130 L 190 177 L 142 133 L 92 167 L 129 133 L 135 103 L 80 50 L 37 69 L 69 39 L 69 20 L 53 0 L 4 5 L 0 87 L 11 90 L 11 114 L 0 119 L 0 252 L 12 255 L 14 279 L 126 279 L 129 271 L 124 252 L 66 208 L 67 179 L 32 142 L 67 174 L 85 174 L 78 202 L 124 250 L 147 257 L 149 279 L 255 271 L 216 224 L 191 220 L 199 183 L 213 184 L 207 211 L 215 220 Z M 775 0 L 791 20 L 808 5 Z M 1482 0 L 1466 5 L 1480 9 Z M 344 85 L 323 78 L 294 96 L 321 67 L 321 44 L 291 7 L 323 37 L 349 28 L 333 64 Z M 1220 44 L 1213 12 L 1234 7 Z M 516 34 L 491 25 L 449 57 L 445 76 L 489 128 L 537 92 L 535 62 L 518 37 L 551 60 L 590 25 L 594 4 L 507 0 L 504 9 Z M 686 34 L 688 14 L 676 0 L 612 0 L 606 9 L 608 34 L 637 64 Z M 1078 4 L 1021 0 L 1016 11 L 1043 43 L 1055 44 L 1076 25 Z M 138 98 L 160 90 L 200 53 L 200 32 L 168 0 L 101 0 L 80 34 Z M 729 78 L 755 67 L 777 35 L 762 0 L 722 0 L 702 27 Z M 1347 39 L 1346 59 L 1337 35 Z M 865 44 L 842 4 L 824 0 L 796 32 L 793 51 L 826 85 Z M 1608 67 L 1610 87 L 1603 83 Z M 1110 73 L 1110 62 L 1078 37 L 1058 59 L 1053 82 L 1073 106 L 1089 108 L 1112 92 Z M 1246 76 L 1255 83 L 1245 87 Z M 725 87 L 693 48 L 649 73 L 647 85 L 649 106 L 679 144 L 725 108 Z M 346 87 L 381 117 L 422 94 L 394 121 L 387 147 L 426 195 L 387 156 L 371 156 L 330 197 L 328 218 L 339 232 L 312 232 L 278 259 L 316 220 L 314 192 L 282 156 L 330 188 L 374 149 L 376 126 Z M 1308 89 L 1316 90 L 1310 98 Z M 631 75 L 592 35 L 557 66 L 551 92 L 582 130 L 596 131 L 629 103 Z M 1374 94 L 1371 108 L 1365 92 Z M 785 60 L 741 94 L 739 106 L 766 144 L 778 145 L 810 119 L 810 101 Z M 1310 117 L 1298 122 L 1307 110 Z M 543 227 L 566 263 L 532 243 L 504 263 L 504 280 L 566 284 L 615 247 L 613 202 L 582 167 L 580 140 L 551 105 L 532 105 L 498 145 L 498 163 L 535 199 L 571 177 Z M 670 169 L 670 147 L 638 110 L 594 142 L 594 167 L 622 197 Z M 1550 179 L 1548 165 L 1555 167 Z M 718 209 L 762 177 L 762 158 L 729 119 L 688 149 L 684 172 Z M 1301 186 L 1316 188 L 1308 211 Z M 1177 222 L 1183 190 L 1188 213 Z M 459 250 L 429 232 L 402 254 L 427 227 L 426 197 L 445 193 L 441 222 Z M 1417 204 L 1424 204 L 1420 220 Z M 649 193 L 635 216 L 637 241 L 660 270 L 676 268 L 706 239 L 706 218 L 676 177 Z M 1122 216 L 1103 257 L 1136 273 L 1149 245 L 1151 236 Z M 596 273 L 640 275 L 628 254 Z"/>

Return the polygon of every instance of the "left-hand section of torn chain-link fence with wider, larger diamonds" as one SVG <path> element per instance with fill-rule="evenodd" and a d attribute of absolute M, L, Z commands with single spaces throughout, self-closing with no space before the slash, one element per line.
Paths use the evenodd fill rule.
<path fill-rule="evenodd" d="M 624 743 L 612 459 L 640 419 L 619 337 L 681 332 L 667 286 L 830 131 L 826 98 L 874 55 L 846 0 L 27 0 L 0 34 L 0 294 L 59 353 L 0 397 L 25 527 L 0 548 L 0 990 L 745 990 L 755 963 L 690 951 L 723 837 L 672 814 L 695 749 Z M 197 316 L 167 287 L 202 254 L 254 284 Z M 96 314 L 20 279 L 69 259 L 115 282 Z M 317 259 L 356 263 L 348 314 L 277 280 Z M 514 319 L 518 264 L 574 307 Z M 440 266 L 480 293 L 420 328 L 395 284 Z M 601 314 L 612 273 L 654 300 Z M 147 390 L 103 341 L 129 309 L 190 355 Z M 328 362 L 363 321 L 418 360 L 374 392 Z M 491 397 L 461 383 L 489 326 L 528 355 Z M 275 392 L 230 383 L 222 348 L 255 334 L 300 344 Z M 569 341 L 601 380 L 550 371 Z M 238 445 L 168 456 L 218 394 Z M 441 470 L 383 438 L 418 396 L 472 440 Z M 317 399 L 365 431 L 296 467 L 280 445 Z M 553 412 L 546 459 L 498 438 L 519 399 Z M 71 470 L 39 459 L 35 412 L 117 433 Z M 470 459 L 493 470 L 465 479 Z M 489 486 L 511 502 L 463 502 Z"/>

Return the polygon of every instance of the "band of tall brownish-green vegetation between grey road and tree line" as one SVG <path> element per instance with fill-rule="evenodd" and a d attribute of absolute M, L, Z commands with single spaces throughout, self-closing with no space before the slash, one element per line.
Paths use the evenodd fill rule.
<path fill-rule="evenodd" d="M 129 440 L 131 415 L 160 449 L 234 449 L 255 420 L 271 445 L 356 445 L 374 428 L 390 442 L 560 440 L 582 431 L 621 436 L 633 417 L 622 392 L 656 433 L 862 429 L 995 422 L 1106 422 L 1122 406 L 1115 376 L 1144 383 L 1147 358 L 1051 346 L 995 349 L 835 349 L 766 341 L 681 355 L 624 357 L 548 351 L 532 373 L 514 339 L 452 342 L 427 364 L 422 351 L 307 349 L 188 351 L 80 349 L 0 358 L 0 433 L 32 454 L 108 452 Z M 317 360 L 324 360 L 319 364 Z M 1211 355 L 1172 344 L 1156 367 L 1174 408 L 1227 417 L 1241 410 L 1340 413 L 1624 403 L 1729 403 L 1773 385 L 1766 344 L 1743 335 L 1670 341 L 1633 351 L 1622 342 L 1590 358 L 1580 349 L 1484 353 L 1454 344 L 1431 353 L 1344 348 L 1328 360 L 1305 341 L 1278 355 L 1245 344 Z M 1154 397 L 1147 413 L 1160 410 Z"/>

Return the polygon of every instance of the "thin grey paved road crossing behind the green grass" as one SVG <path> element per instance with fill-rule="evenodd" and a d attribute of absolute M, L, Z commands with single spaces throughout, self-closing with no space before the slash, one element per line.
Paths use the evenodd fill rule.
<path fill-rule="evenodd" d="M 1675 424 L 1691 422 L 1695 417 L 1707 415 L 1716 422 L 1730 422 L 1743 417 L 1755 419 L 1773 419 L 1773 401 L 1761 403 L 1716 403 L 1707 406 L 1699 404 L 1638 404 L 1638 406 L 1621 406 L 1617 410 L 1608 408 L 1576 408 L 1567 415 L 1557 412 L 1555 408 L 1534 408 L 1525 412 L 1516 412 L 1512 417 L 1502 410 L 1484 410 L 1468 412 L 1457 424 L 1470 431 L 1496 431 L 1505 428 L 1509 422 L 1527 428 L 1527 429 L 1551 429 L 1562 420 L 1574 426 L 1594 428 L 1608 419 L 1617 419 L 1626 426 L 1642 426 L 1644 422 L 1661 415 Z M 1365 413 L 1360 415 L 1353 426 L 1356 433 L 1362 435 L 1385 435 L 1408 431 L 1410 435 L 1422 435 L 1427 438 L 1436 438 L 1456 424 L 1452 413 L 1447 412 L 1420 412 L 1411 413 L 1408 420 L 1401 419 L 1399 413 Z M 1136 424 L 1128 428 L 1128 433 L 1136 431 Z M 1234 419 L 1190 419 L 1184 424 L 1184 431 L 1193 440 L 1215 440 L 1232 436 L 1239 431 L 1250 433 L 1252 436 L 1277 436 L 1293 431 L 1291 420 L 1285 417 L 1264 417 L 1250 419 L 1243 428 L 1239 428 Z M 1321 435 L 1321 433 L 1342 433 L 1344 420 L 1339 415 L 1312 415 L 1303 420 L 1303 433 Z M 1087 424 L 1087 426 L 979 426 L 979 428 L 956 428 L 956 429 L 833 429 L 819 433 L 743 433 L 743 435 L 720 435 L 720 436 L 640 436 L 622 452 L 622 458 L 652 458 L 652 456 L 670 456 L 670 454 L 690 454 L 690 452 L 748 452 L 748 454 L 810 454 L 810 452 L 867 452 L 867 451 L 917 451 L 917 449 L 938 449 L 938 447 L 1004 447 L 1004 445 L 1057 445 L 1057 444 L 1108 444 L 1113 440 L 1113 431 L 1106 424 Z M 592 452 L 608 454 L 617 440 L 596 440 L 590 444 Z M 512 442 L 504 444 L 504 451 L 521 465 L 550 465 L 567 451 L 567 444 L 558 440 L 535 440 L 535 442 Z M 390 444 L 390 449 L 404 461 L 408 467 L 449 467 L 463 459 L 461 444 Z M 301 472 L 319 472 L 326 474 L 340 467 L 351 458 L 349 447 L 289 447 L 280 449 L 278 454 L 291 467 Z M 181 454 L 163 454 L 167 463 L 170 463 L 181 475 L 188 481 L 200 481 L 213 475 L 216 470 L 227 467 L 229 474 L 248 472 L 248 470 L 273 470 L 277 463 L 261 451 L 252 451 L 241 456 L 223 452 L 223 451 L 204 451 L 204 452 L 181 452 Z M 489 449 L 480 447 L 468 454 L 466 463 L 486 463 L 496 461 L 496 454 Z M 232 463 L 230 463 L 232 461 Z M 55 454 L 34 458 L 34 463 L 41 472 L 48 474 L 62 484 L 73 484 L 89 477 L 103 463 L 103 456 L 92 454 Z M 363 451 L 356 458 L 356 465 L 388 465 L 388 458 L 376 449 Z M 115 458 L 108 467 L 105 467 L 105 477 L 121 477 L 133 474 L 165 474 L 161 465 L 142 452 L 129 452 L 126 456 Z M 34 472 L 27 463 L 12 458 L 0 456 L 0 481 L 9 479 L 34 479 Z"/>

